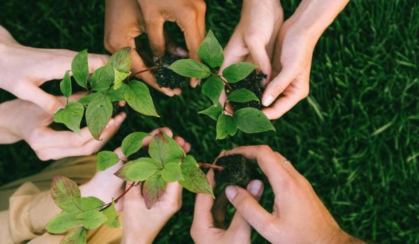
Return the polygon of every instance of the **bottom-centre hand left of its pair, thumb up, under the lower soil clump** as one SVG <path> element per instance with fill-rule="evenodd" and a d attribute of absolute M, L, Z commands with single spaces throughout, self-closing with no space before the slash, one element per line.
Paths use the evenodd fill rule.
<path fill-rule="evenodd" d="M 222 151 L 219 157 L 224 155 Z M 214 171 L 210 169 L 207 174 L 208 181 L 212 189 L 215 188 Z M 263 192 L 263 183 L 255 180 L 247 185 L 249 195 L 255 201 L 260 199 Z M 195 243 L 250 243 L 251 227 L 249 223 L 236 212 L 231 220 L 228 229 L 223 228 L 224 218 L 226 214 L 227 202 L 224 202 L 223 192 L 217 199 L 217 204 L 214 204 L 214 199 L 206 194 L 196 195 L 195 211 L 193 212 L 193 223 L 191 227 L 191 236 Z M 220 204 L 221 202 L 221 204 Z M 219 225 L 219 226 L 217 226 Z"/>

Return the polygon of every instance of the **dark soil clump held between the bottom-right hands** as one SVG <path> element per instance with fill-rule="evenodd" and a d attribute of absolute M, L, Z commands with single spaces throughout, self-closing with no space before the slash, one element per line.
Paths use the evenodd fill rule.
<path fill-rule="evenodd" d="M 216 165 L 224 167 L 223 170 L 214 170 L 214 179 L 217 185 L 239 185 L 243 188 L 256 178 L 256 165 L 253 165 L 242 155 L 224 156 L 216 160 Z"/>

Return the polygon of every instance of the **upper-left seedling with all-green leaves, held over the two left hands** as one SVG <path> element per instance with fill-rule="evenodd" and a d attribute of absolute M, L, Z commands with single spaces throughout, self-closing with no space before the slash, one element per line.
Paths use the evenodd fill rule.
<path fill-rule="evenodd" d="M 68 102 L 64 109 L 54 114 L 54 122 L 64 123 L 70 130 L 80 134 L 80 123 L 84 115 L 87 128 L 94 139 L 100 139 L 102 131 L 108 124 L 114 101 L 126 101 L 140 114 L 159 116 L 154 108 L 152 97 L 147 86 L 137 80 L 130 80 L 131 47 L 124 47 L 113 54 L 106 66 L 98 68 L 89 79 L 87 50 L 79 52 L 59 84 L 61 93 L 70 98 L 72 93 L 70 72 L 75 82 L 87 91 L 87 95 L 78 102 Z M 141 72 L 141 71 L 140 71 Z M 135 74 L 134 74 L 135 75 Z"/>

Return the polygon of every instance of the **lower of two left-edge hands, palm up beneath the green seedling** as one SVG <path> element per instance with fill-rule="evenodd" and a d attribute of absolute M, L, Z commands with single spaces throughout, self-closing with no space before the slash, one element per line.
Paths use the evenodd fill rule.
<path fill-rule="evenodd" d="M 78 100 L 81 96 L 80 93 L 75 94 L 70 100 Z M 63 104 L 66 101 L 62 96 L 56 98 Z M 0 114 L 0 144 L 10 144 L 23 139 L 41 160 L 96 153 L 117 132 L 126 118 L 126 114 L 122 112 L 110 119 L 102 132 L 102 140 L 97 141 L 87 127 L 80 130 L 81 135 L 71 131 L 52 130 L 48 127 L 52 123 L 52 115 L 32 102 L 20 99 L 3 102 L 0 105 Z"/>

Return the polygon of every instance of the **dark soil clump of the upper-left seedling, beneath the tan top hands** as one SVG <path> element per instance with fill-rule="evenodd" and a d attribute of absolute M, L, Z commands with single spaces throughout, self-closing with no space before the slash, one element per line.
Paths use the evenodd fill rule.
<path fill-rule="evenodd" d="M 180 88 L 185 84 L 188 84 L 189 78 L 178 75 L 173 70 L 169 70 L 168 67 L 173 62 L 184 59 L 182 56 L 165 55 L 157 59 L 155 65 L 158 67 L 153 70 L 156 76 L 157 84 L 160 87 L 169 87 L 170 89 Z"/>

